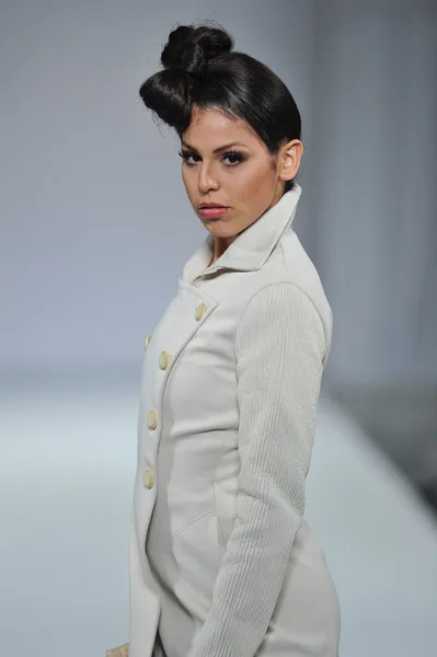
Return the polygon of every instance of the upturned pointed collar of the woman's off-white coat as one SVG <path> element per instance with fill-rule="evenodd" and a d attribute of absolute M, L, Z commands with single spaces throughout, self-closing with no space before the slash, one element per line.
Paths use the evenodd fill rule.
<path fill-rule="evenodd" d="M 187 283 L 221 268 L 240 272 L 260 269 L 278 243 L 283 233 L 291 226 L 302 188 L 295 188 L 269 208 L 228 246 L 225 253 L 208 267 L 214 253 L 214 235 L 206 239 L 183 268 L 182 279 Z"/>

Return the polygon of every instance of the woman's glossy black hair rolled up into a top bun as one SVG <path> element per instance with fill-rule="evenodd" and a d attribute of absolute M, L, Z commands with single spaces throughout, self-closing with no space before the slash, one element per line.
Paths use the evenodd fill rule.
<path fill-rule="evenodd" d="M 283 143 L 301 139 L 299 110 L 276 73 L 232 48 L 233 39 L 221 26 L 180 25 L 161 53 L 163 70 L 148 78 L 139 94 L 180 137 L 193 105 L 216 107 L 244 119 L 275 154 Z M 292 187 L 294 181 L 287 181 L 285 192 Z"/>

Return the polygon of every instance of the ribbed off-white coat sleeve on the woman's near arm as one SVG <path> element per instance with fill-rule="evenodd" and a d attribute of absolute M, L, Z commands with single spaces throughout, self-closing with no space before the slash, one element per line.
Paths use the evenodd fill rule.
<path fill-rule="evenodd" d="M 290 283 L 260 290 L 235 342 L 240 410 L 237 519 L 188 657 L 254 657 L 304 511 L 326 341 Z"/>

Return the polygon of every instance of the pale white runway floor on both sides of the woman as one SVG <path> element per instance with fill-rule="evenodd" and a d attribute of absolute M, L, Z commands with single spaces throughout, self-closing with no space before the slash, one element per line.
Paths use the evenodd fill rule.
<path fill-rule="evenodd" d="M 127 641 L 137 397 L 80 380 L 1 390 L 2 655 L 104 657 Z M 338 589 L 341 657 L 436 657 L 436 521 L 326 401 L 307 517 Z"/>

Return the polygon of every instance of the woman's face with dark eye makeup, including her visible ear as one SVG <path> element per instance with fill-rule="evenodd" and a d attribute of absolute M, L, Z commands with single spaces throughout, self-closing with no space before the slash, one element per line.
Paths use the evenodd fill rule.
<path fill-rule="evenodd" d="M 299 169 L 301 147 L 294 140 L 274 157 L 243 119 L 193 108 L 181 139 L 182 177 L 194 211 L 216 238 L 216 256 L 279 200 Z M 208 203 L 227 209 L 203 210 Z"/>

